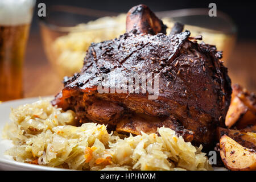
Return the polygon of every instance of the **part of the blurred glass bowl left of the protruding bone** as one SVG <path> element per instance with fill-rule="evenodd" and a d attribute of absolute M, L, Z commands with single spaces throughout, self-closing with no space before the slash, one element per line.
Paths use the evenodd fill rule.
<path fill-rule="evenodd" d="M 47 59 L 60 78 L 80 71 L 91 43 L 125 32 L 125 14 L 63 5 L 51 6 L 47 12 L 40 18 L 40 33 Z"/>

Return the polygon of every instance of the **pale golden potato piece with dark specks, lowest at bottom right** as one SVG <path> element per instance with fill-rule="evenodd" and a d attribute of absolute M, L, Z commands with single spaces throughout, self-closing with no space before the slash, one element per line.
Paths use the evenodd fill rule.
<path fill-rule="evenodd" d="M 226 135 L 220 139 L 220 155 L 226 168 L 232 171 L 256 170 L 255 150 L 241 146 Z"/>

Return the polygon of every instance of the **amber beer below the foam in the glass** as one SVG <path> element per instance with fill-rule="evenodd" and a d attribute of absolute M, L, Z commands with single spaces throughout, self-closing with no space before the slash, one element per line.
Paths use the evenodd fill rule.
<path fill-rule="evenodd" d="M 0 100 L 22 97 L 22 65 L 28 24 L 0 25 Z"/>

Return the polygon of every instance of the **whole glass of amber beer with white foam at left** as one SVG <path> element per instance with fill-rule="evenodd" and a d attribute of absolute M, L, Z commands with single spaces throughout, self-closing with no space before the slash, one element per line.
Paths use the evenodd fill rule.
<path fill-rule="evenodd" d="M 22 67 L 35 0 L 0 1 L 0 101 L 22 97 Z"/>

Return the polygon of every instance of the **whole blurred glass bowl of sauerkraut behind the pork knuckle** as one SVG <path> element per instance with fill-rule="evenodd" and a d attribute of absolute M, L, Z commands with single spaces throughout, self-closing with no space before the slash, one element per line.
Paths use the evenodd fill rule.
<path fill-rule="evenodd" d="M 40 32 L 47 58 L 60 78 L 80 71 L 91 43 L 125 33 L 125 13 L 64 5 L 51 6 L 47 13 L 40 19 Z M 217 18 L 210 18 L 208 9 L 186 9 L 162 11 L 156 15 L 169 27 L 167 34 L 174 22 L 184 23 L 184 28 L 190 30 L 192 36 L 203 35 L 205 43 L 224 50 L 224 60 L 228 60 L 236 40 L 236 28 L 225 14 L 217 13 Z M 229 27 L 225 26 L 227 24 Z"/>

